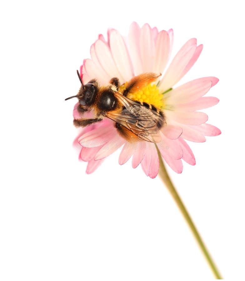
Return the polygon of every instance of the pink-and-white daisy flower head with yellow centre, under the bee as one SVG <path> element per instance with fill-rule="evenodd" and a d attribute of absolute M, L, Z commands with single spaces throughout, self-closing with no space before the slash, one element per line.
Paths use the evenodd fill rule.
<path fill-rule="evenodd" d="M 108 85 L 113 77 L 118 77 L 123 85 L 142 73 L 163 73 L 155 82 L 131 94 L 130 99 L 151 104 L 163 112 L 166 124 L 159 131 L 160 139 L 156 145 L 166 163 L 175 172 L 181 173 L 182 160 L 190 165 L 196 164 L 185 140 L 204 142 L 205 136 L 221 133 L 217 127 L 206 123 L 207 114 L 198 111 L 218 103 L 216 97 L 203 97 L 217 84 L 218 79 L 202 77 L 174 87 L 197 61 L 203 46 L 197 46 L 195 38 L 188 40 L 165 70 L 172 45 L 172 29 L 158 32 L 156 27 L 145 24 L 140 28 L 133 22 L 126 39 L 117 30 L 109 29 L 108 41 L 99 35 L 91 46 L 91 59 L 84 60 L 80 74 L 83 84 L 96 78 L 100 85 Z M 93 115 L 93 112 L 78 112 L 78 105 L 74 106 L 74 119 Z M 88 162 L 86 172 L 92 173 L 105 157 L 123 146 L 119 164 L 126 163 L 132 157 L 133 168 L 141 164 L 144 173 L 155 178 L 159 170 L 155 142 L 139 139 L 135 145 L 118 134 L 114 123 L 104 118 L 82 129 L 75 139 L 74 143 L 80 147 L 80 160 Z"/>

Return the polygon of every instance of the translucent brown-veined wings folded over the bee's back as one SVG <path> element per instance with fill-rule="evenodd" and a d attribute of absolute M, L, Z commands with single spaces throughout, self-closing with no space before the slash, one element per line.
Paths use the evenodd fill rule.
<path fill-rule="evenodd" d="M 106 117 L 124 126 L 144 141 L 160 141 L 159 128 L 165 123 L 163 116 L 117 92 L 114 94 L 124 109 L 107 112 Z"/>

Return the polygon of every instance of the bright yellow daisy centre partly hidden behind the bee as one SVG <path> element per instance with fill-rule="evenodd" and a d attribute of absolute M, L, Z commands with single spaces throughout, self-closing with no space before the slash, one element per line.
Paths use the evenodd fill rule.
<path fill-rule="evenodd" d="M 125 83 L 127 84 L 127 82 Z M 125 89 L 125 84 L 120 86 L 119 92 Z M 164 108 L 163 94 L 160 94 L 156 84 L 149 84 L 137 92 L 129 94 L 128 98 L 133 101 L 146 102 L 152 104 L 158 109 Z"/>

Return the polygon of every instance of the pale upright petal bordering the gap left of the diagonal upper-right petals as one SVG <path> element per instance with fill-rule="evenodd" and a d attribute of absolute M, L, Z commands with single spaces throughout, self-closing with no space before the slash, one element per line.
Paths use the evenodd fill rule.
<path fill-rule="evenodd" d="M 169 35 L 168 32 L 162 30 L 158 33 L 157 41 L 156 41 L 156 53 L 155 53 L 155 61 L 154 61 L 154 72 L 163 73 L 166 64 L 168 62 L 169 57 Z"/>

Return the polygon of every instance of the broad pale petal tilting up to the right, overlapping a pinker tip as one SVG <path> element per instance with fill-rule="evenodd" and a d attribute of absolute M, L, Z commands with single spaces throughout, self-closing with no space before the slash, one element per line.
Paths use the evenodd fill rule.
<path fill-rule="evenodd" d="M 197 80 L 187 82 L 166 93 L 164 95 L 166 105 L 183 104 L 204 96 L 210 90 L 212 82 Z"/>

